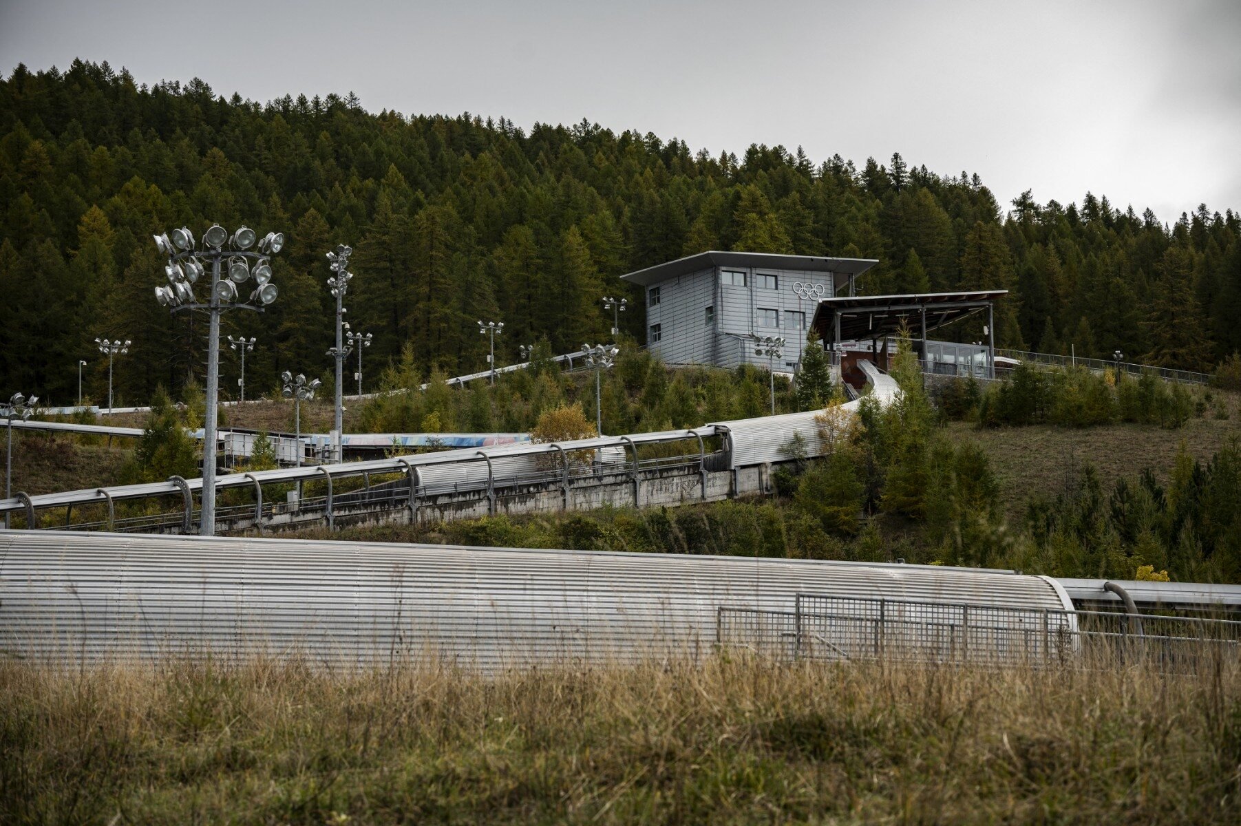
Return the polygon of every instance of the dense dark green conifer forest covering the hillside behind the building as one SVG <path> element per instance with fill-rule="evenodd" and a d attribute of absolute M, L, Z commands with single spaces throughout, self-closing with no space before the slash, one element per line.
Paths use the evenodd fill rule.
<path fill-rule="evenodd" d="M 427 370 L 479 370 L 475 319 L 505 321 L 501 363 L 539 336 L 563 351 L 607 336 L 602 295 L 638 300 L 622 327 L 643 339 L 642 296 L 617 277 L 712 248 L 874 257 L 870 293 L 1008 288 L 1005 346 L 1190 370 L 1241 350 L 1231 210 L 1163 223 L 1091 193 L 1000 205 L 977 175 L 900 155 L 861 169 L 781 146 L 712 158 L 586 120 L 524 131 L 371 114 L 352 95 L 259 104 L 78 61 L 0 81 L 0 376 L 56 402 L 76 394 L 78 358 L 88 394 L 105 392 L 96 336 L 134 342 L 118 403 L 201 372 L 201 320 L 155 303 L 150 234 L 212 222 L 288 236 L 280 299 L 226 321 L 258 336 L 247 373 L 261 388 L 284 368 L 329 370 L 324 252 L 339 242 L 356 251 L 349 320 L 375 334 L 371 365 L 408 342 Z"/>

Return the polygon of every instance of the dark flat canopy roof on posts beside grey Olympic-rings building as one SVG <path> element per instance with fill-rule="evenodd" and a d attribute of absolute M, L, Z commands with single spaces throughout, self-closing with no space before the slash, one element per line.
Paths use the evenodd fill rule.
<path fill-rule="evenodd" d="M 902 322 L 921 337 L 923 311 L 927 320 L 926 329 L 931 331 L 984 310 L 1005 295 L 1008 290 L 830 298 L 819 301 L 810 326 L 825 344 L 835 344 L 838 315 L 840 341 L 896 335 Z"/>

